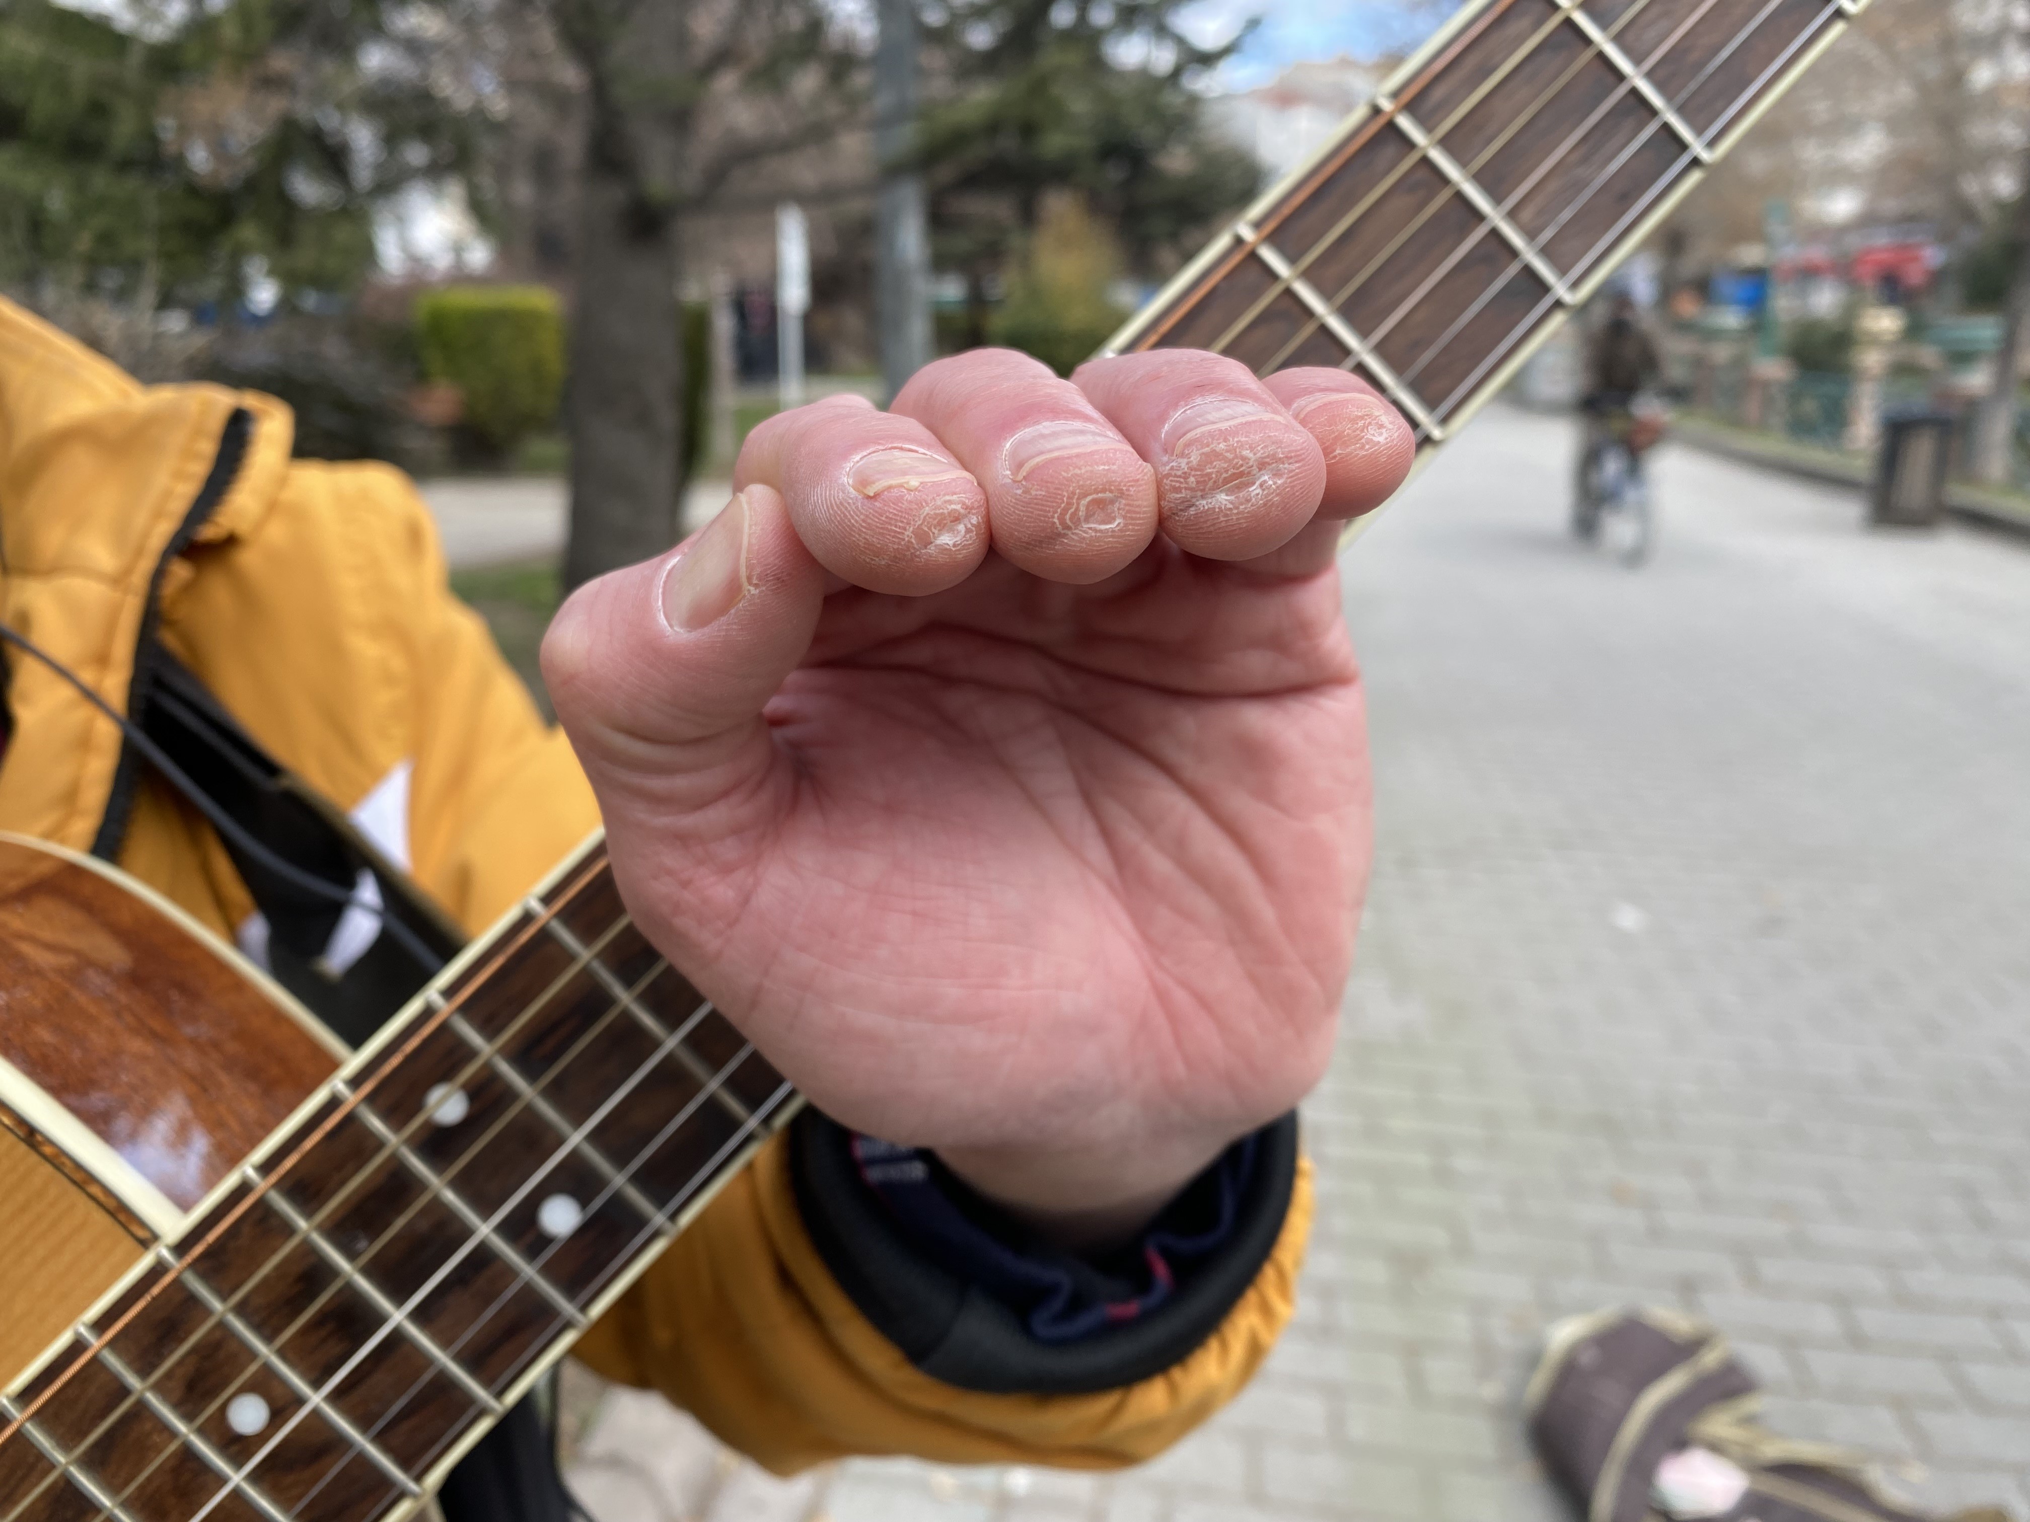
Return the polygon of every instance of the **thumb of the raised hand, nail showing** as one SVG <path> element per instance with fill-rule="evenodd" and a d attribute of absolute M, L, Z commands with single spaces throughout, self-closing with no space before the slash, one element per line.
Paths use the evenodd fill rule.
<path fill-rule="evenodd" d="M 668 556 L 587 582 L 542 641 L 609 836 L 733 840 L 784 802 L 761 708 L 810 649 L 824 572 L 747 487 Z"/>

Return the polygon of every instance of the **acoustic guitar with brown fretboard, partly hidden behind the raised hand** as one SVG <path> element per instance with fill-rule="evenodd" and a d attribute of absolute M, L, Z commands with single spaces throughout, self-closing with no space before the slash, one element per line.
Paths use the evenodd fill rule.
<path fill-rule="evenodd" d="M 1108 351 L 1342 365 L 1441 444 L 1868 0 L 1472 0 Z M 359 1051 L 0 840 L 0 1522 L 376 1522 L 798 1108 L 595 838 Z"/>

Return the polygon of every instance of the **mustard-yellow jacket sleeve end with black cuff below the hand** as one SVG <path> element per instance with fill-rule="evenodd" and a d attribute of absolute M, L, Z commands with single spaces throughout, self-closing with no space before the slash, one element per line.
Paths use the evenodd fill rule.
<path fill-rule="evenodd" d="M 1025 1335 L 916 1254 L 826 1159 L 826 1126 L 806 1114 L 775 1138 L 579 1358 L 777 1473 L 855 1453 L 1112 1469 L 1238 1394 L 1289 1321 L 1311 1222 L 1295 1124 L 1202 1278 L 1210 1295 L 1072 1345 Z"/>

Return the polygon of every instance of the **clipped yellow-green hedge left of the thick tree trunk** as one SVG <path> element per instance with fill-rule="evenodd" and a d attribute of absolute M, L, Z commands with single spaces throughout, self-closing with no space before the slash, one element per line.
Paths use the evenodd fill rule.
<path fill-rule="evenodd" d="M 499 451 L 556 420 L 564 313 L 544 286 L 447 286 L 416 298 L 422 371 L 465 394 L 465 426 Z"/>

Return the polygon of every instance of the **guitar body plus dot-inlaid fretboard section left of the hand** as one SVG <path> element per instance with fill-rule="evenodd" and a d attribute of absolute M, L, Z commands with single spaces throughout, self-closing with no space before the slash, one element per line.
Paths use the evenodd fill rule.
<path fill-rule="evenodd" d="M 599 838 L 345 1051 L 0 836 L 0 1522 L 418 1510 L 796 1108 Z"/>

